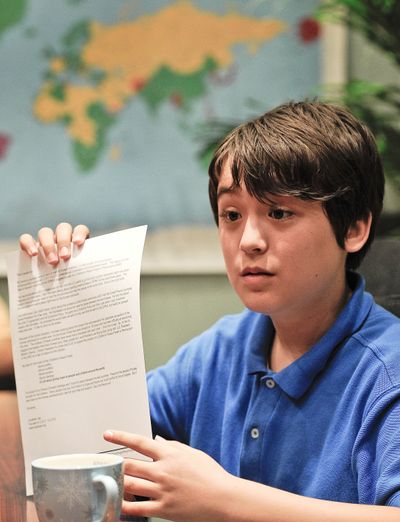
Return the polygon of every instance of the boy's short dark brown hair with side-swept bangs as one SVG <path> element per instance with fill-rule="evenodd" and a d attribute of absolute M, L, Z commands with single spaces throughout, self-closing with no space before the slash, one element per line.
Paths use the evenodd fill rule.
<path fill-rule="evenodd" d="M 230 161 L 234 185 L 263 201 L 267 193 L 319 200 L 344 247 L 349 228 L 372 215 L 363 248 L 347 256 L 355 269 L 375 235 L 383 205 L 384 175 L 374 137 L 343 107 L 287 103 L 234 129 L 209 167 L 209 196 L 218 224 L 217 188 Z"/>

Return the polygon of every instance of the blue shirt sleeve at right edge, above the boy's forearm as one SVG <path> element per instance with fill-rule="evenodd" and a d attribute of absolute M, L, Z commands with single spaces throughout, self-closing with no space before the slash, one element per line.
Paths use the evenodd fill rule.
<path fill-rule="evenodd" d="M 372 405 L 353 456 L 360 503 L 400 507 L 400 386 Z"/>

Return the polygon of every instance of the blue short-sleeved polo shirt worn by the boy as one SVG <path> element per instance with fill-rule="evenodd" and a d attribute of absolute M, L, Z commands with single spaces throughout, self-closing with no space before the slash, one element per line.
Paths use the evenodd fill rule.
<path fill-rule="evenodd" d="M 349 277 L 336 322 L 280 372 L 266 363 L 272 322 L 249 310 L 150 372 L 154 433 L 286 491 L 400 506 L 400 320 Z"/>

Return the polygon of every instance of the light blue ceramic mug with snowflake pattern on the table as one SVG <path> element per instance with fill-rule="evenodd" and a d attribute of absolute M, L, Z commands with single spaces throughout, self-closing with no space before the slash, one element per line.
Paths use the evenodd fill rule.
<path fill-rule="evenodd" d="M 33 498 L 40 522 L 115 522 L 123 495 L 123 458 L 81 453 L 32 462 Z"/>

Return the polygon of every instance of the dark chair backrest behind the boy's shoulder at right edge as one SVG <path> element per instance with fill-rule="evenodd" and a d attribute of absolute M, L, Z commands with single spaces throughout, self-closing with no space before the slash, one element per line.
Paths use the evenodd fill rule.
<path fill-rule="evenodd" d="M 376 302 L 400 317 L 400 239 L 376 239 L 359 272 Z"/>

